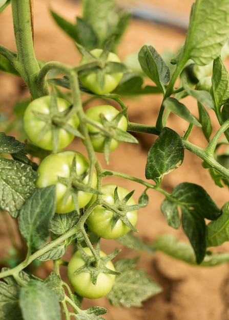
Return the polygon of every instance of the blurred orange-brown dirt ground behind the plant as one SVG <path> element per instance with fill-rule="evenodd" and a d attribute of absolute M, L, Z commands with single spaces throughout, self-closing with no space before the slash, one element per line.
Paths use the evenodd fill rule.
<path fill-rule="evenodd" d="M 126 1 L 134 3 L 134 1 Z M 157 5 L 167 10 L 171 15 L 179 14 L 180 17 L 189 18 L 192 0 L 145 0 L 145 4 Z M 122 4 L 125 2 L 122 2 Z M 36 56 L 46 61 L 58 60 L 68 64 L 75 64 L 79 61 L 79 55 L 74 43 L 58 30 L 49 14 L 49 6 L 74 21 L 75 16 L 80 13 L 80 8 L 74 1 L 67 0 L 34 0 L 34 47 Z M 138 51 L 142 45 L 151 44 L 162 53 L 164 50 L 177 50 L 185 37 L 185 31 L 156 24 L 152 21 L 132 19 L 130 27 L 124 35 L 119 46 L 119 55 L 124 59 L 128 54 Z M 8 8 L 0 19 L 0 40 L 9 49 L 15 50 L 13 30 Z M 0 74 L 0 107 L 7 109 L 20 98 L 28 96 L 26 88 L 18 79 L 6 74 Z M 126 99 L 123 101 L 129 106 L 129 117 L 131 121 L 145 124 L 155 124 L 158 107 L 161 102 L 160 96 L 145 96 L 142 98 Z M 187 105 L 195 113 L 196 104 L 187 100 Z M 169 119 L 169 126 L 175 128 L 180 134 L 186 130 L 186 123 L 175 116 Z M 217 124 L 215 123 L 216 129 Z M 191 142 L 204 146 L 202 134 L 197 128 L 190 138 Z M 199 134 L 198 134 L 199 133 Z M 109 168 L 137 176 L 144 179 L 144 168 L 147 159 L 147 152 L 155 140 L 154 136 L 139 134 L 138 146 L 121 144 L 110 159 Z M 84 147 L 75 142 L 77 150 L 85 153 Z M 102 156 L 101 164 L 106 167 Z M 130 165 L 131 164 L 131 165 Z M 116 179 L 117 180 L 117 179 Z M 112 178 L 112 182 L 116 182 Z M 109 179 L 108 179 L 109 181 Z M 228 190 L 216 187 L 211 180 L 209 173 L 202 169 L 201 161 L 189 152 L 185 152 L 183 165 L 165 177 L 163 187 L 172 191 L 173 187 L 180 182 L 193 182 L 201 185 L 212 196 L 216 203 L 221 206 L 228 199 Z M 127 189 L 136 190 L 136 199 L 142 189 L 128 180 L 118 180 L 118 183 Z M 172 233 L 178 239 L 186 241 L 182 230 L 170 228 L 160 211 L 160 203 L 163 197 L 151 191 L 150 203 L 147 208 L 139 211 L 137 228 L 139 237 L 148 243 L 152 243 L 158 236 Z M 8 238 L 4 222 L 0 224 L 0 250 L 1 256 L 7 253 Z M 113 248 L 119 247 L 114 241 L 103 241 L 102 249 L 110 252 Z M 219 250 L 223 252 L 228 249 L 224 245 Z M 134 257 L 136 253 L 122 248 L 120 257 Z M 85 300 L 83 306 L 89 307 L 99 305 L 109 309 L 105 318 L 107 320 L 229 320 L 229 276 L 228 264 L 211 268 L 200 268 L 189 266 L 185 263 L 173 260 L 161 253 L 154 255 L 140 254 L 138 267 L 147 271 L 148 275 L 157 281 L 163 292 L 143 303 L 142 308 L 117 309 L 111 307 L 106 298 L 96 301 Z M 50 272 L 52 265 L 45 265 L 46 272 Z M 64 272 L 64 270 L 63 270 Z"/>

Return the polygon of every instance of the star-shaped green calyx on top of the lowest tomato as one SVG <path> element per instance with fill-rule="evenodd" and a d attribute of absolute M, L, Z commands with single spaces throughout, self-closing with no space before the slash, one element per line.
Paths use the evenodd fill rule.
<path fill-rule="evenodd" d="M 79 250 L 80 255 L 82 256 L 82 259 L 84 259 L 85 264 L 81 266 L 80 268 L 76 269 L 74 271 L 74 275 L 79 275 L 82 272 L 88 272 L 91 276 L 91 281 L 94 285 L 97 283 L 97 278 L 99 273 L 110 273 L 110 275 L 120 275 L 120 272 L 111 270 L 106 267 L 107 263 L 112 260 L 121 250 L 115 250 L 112 254 L 100 257 L 99 256 L 99 241 L 97 242 L 95 252 L 99 257 L 99 261 L 95 261 L 94 256 L 88 255 L 85 250 L 82 248 L 81 245 L 77 245 L 77 249 Z"/>

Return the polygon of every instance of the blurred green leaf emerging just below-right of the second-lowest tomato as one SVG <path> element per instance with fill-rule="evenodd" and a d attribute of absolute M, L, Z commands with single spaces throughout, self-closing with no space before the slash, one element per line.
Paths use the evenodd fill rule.
<path fill-rule="evenodd" d="M 116 241 L 126 246 L 129 249 L 136 251 L 144 251 L 152 254 L 154 249 L 144 243 L 141 239 L 135 237 L 132 232 L 128 232 L 126 235 L 116 238 Z"/>

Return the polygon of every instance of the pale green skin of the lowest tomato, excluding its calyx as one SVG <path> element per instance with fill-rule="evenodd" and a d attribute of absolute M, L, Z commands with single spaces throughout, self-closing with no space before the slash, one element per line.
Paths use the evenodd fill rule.
<path fill-rule="evenodd" d="M 85 252 L 92 256 L 91 250 L 88 247 L 84 248 Z M 100 257 L 107 255 L 100 250 Z M 77 251 L 71 258 L 68 264 L 68 279 L 74 291 L 80 296 L 89 299 L 98 299 L 108 294 L 114 284 L 115 275 L 110 273 L 100 272 L 97 278 L 96 285 L 91 281 L 89 272 L 81 272 L 79 275 L 74 275 L 74 271 L 85 264 L 79 251 Z M 115 267 L 111 261 L 106 264 L 108 269 L 115 271 Z"/>

